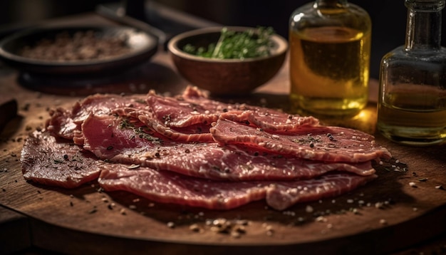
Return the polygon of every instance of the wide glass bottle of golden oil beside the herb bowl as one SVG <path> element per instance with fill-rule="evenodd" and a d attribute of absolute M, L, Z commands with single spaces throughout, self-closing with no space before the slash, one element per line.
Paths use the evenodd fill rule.
<path fill-rule="evenodd" d="M 346 0 L 316 0 L 291 14 L 292 110 L 338 117 L 367 105 L 371 27 L 368 13 Z"/>

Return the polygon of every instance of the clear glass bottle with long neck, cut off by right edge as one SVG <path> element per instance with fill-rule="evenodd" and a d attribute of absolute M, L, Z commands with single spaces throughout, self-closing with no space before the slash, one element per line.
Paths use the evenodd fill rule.
<path fill-rule="evenodd" d="M 405 6 L 405 44 L 380 64 L 377 129 L 405 145 L 440 144 L 446 140 L 445 0 L 405 0 Z"/>

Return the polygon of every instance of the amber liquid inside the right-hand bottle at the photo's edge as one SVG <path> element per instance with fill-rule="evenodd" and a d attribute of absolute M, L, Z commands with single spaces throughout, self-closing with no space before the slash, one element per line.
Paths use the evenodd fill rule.
<path fill-rule="evenodd" d="M 429 73 L 426 73 L 429 75 Z M 443 84 L 446 77 L 443 75 Z M 405 145 L 435 145 L 446 140 L 446 90 L 408 83 L 387 84 L 378 103 L 378 130 Z"/>

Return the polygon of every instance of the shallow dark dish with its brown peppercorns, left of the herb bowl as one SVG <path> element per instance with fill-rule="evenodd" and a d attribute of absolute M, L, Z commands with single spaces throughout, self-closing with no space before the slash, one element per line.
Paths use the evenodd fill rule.
<path fill-rule="evenodd" d="M 0 59 L 29 73 L 123 70 L 150 60 L 157 37 L 126 26 L 38 26 L 0 41 Z"/>

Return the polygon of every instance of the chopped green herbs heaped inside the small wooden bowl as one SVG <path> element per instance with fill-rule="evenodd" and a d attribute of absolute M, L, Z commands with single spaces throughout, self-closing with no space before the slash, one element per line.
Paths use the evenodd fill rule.
<path fill-rule="evenodd" d="M 204 58 L 257 58 L 269 56 L 272 42 L 270 36 L 274 33 L 271 27 L 259 27 L 247 31 L 232 31 L 222 28 L 217 43 L 210 43 L 207 48 L 187 44 L 183 51 Z"/>

